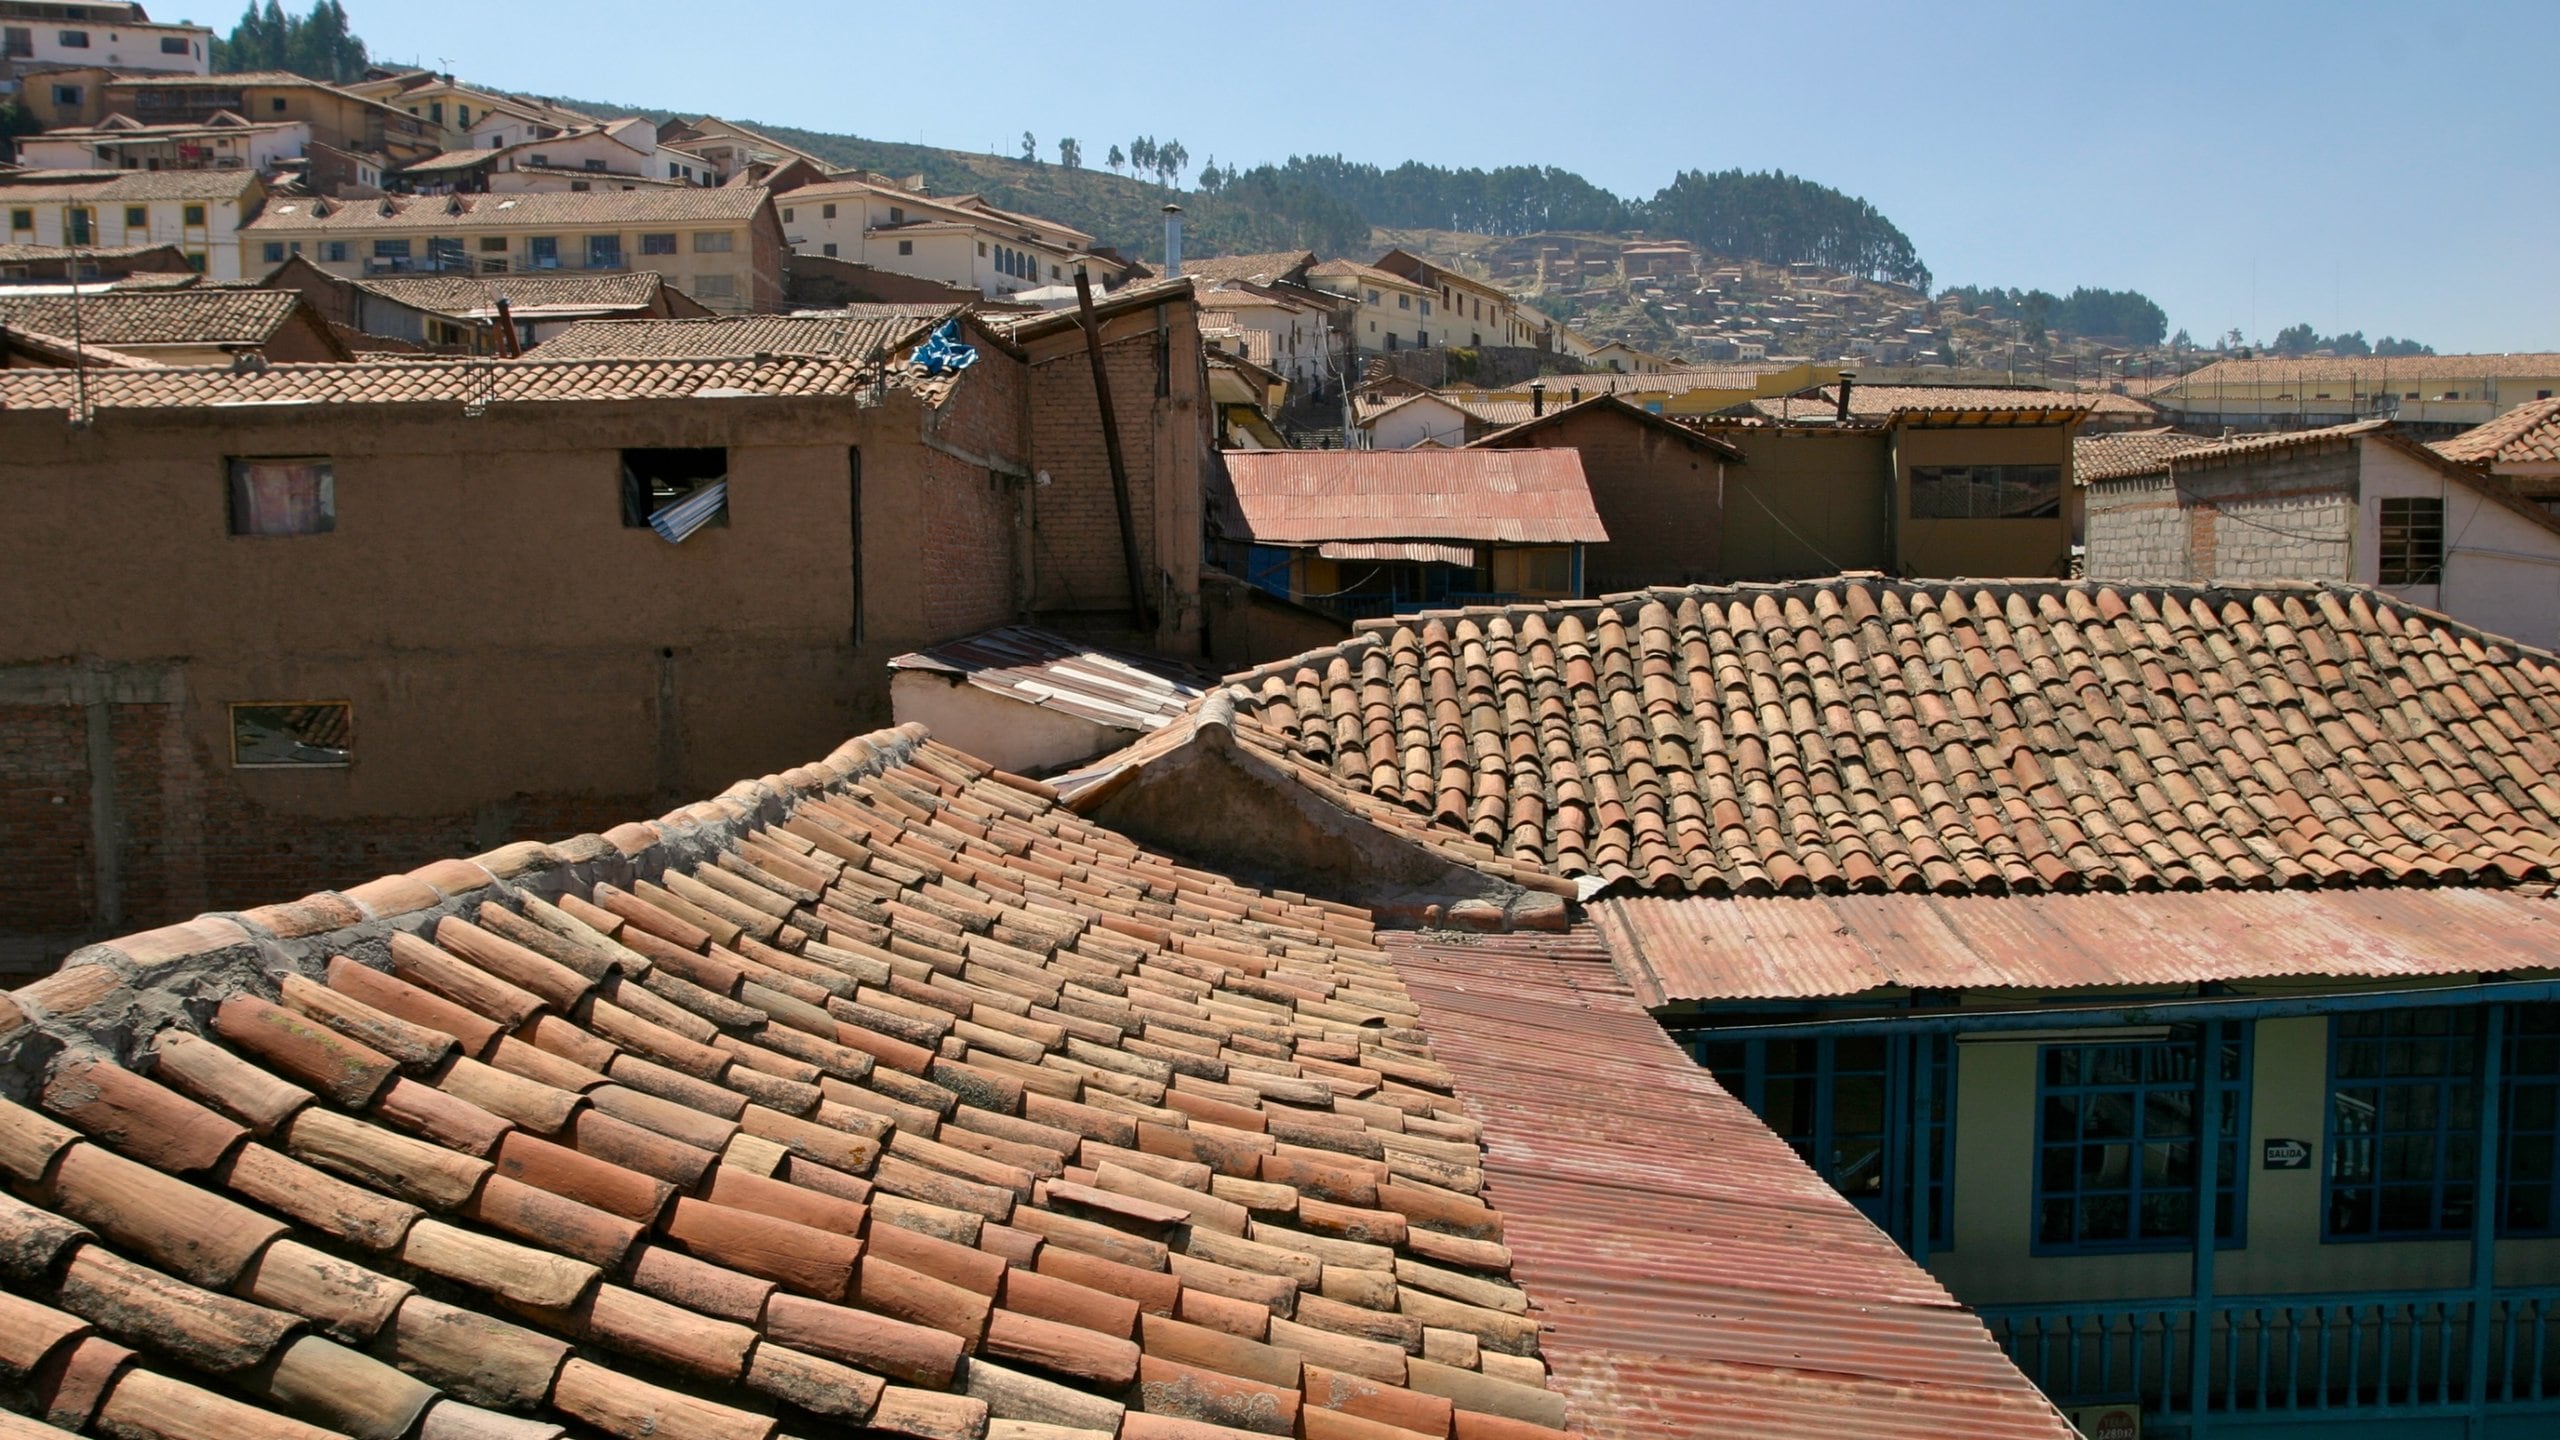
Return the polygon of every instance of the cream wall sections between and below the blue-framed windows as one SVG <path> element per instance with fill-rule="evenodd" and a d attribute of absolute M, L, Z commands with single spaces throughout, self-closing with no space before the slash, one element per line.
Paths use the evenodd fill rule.
<path fill-rule="evenodd" d="M 2092 1033 L 2102 1040 L 2104 1033 Z M 2217 1294 L 2447 1289 L 2470 1281 L 2470 1240 L 2319 1243 L 2327 1166 L 2324 1017 L 2260 1020 L 2253 1040 L 2248 1230 L 2214 1258 Z M 1956 1045 L 1956 1245 L 1930 1271 L 1966 1304 L 2184 1297 L 2191 1250 L 2033 1256 L 2035 1063 L 2045 1040 L 1976 1035 Z M 2309 1140 L 2312 1166 L 2258 1168 L 2266 1140 Z M 2560 1281 L 2560 1240 L 2501 1240 L 2499 1284 Z"/>

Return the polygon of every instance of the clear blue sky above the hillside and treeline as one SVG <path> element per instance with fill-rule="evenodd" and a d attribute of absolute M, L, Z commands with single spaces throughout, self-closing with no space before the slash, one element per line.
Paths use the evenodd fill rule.
<path fill-rule="evenodd" d="M 2560 0 L 348 10 L 376 56 L 484 85 L 950 149 L 1149 133 L 1193 167 L 1556 164 L 1638 197 L 1774 167 L 1871 200 L 1940 284 L 2132 287 L 2199 341 L 2560 348 Z"/>

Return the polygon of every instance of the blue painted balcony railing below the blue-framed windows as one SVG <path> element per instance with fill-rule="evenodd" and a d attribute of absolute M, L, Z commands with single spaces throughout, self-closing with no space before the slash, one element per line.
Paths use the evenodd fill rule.
<path fill-rule="evenodd" d="M 2017 1368 L 2056 1404 L 2196 1412 L 2186 1299 L 1992 1304 L 1979 1309 Z M 2560 1286 L 2501 1289 L 2488 1368 L 2470 1391 L 2473 1294 L 2360 1291 L 2225 1297 L 2212 1304 L 2209 1412 L 2560 1414 Z"/>

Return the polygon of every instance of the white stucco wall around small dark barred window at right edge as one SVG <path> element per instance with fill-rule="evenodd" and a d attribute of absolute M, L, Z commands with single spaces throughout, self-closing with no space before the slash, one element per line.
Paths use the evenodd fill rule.
<path fill-rule="evenodd" d="M 2358 582 L 2376 584 L 2381 574 L 2381 500 L 2440 497 L 2445 584 L 2394 587 L 2391 594 L 2529 646 L 2560 646 L 2560 533 L 2391 446 L 2358 448 Z"/>

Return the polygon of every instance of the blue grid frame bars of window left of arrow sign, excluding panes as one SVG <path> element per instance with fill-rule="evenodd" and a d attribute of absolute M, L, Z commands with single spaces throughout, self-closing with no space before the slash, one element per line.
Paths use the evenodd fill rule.
<path fill-rule="evenodd" d="M 2243 1248 L 2248 1248 L 2248 1166 L 2243 1161 L 2248 1161 L 2248 1135 L 2250 1135 L 2248 1125 L 2250 1125 L 2250 1089 L 2253 1089 L 2250 1079 L 2253 1079 L 2255 1056 L 2258 1056 L 2255 1025 L 2245 1022 L 2245 1020 L 2227 1022 L 2227 1027 L 2222 1033 L 2222 1045 L 2227 1051 L 2232 1051 L 2232 1061 L 2235 1061 L 2232 1063 L 2232 1076 L 2227 1076 L 2227 1079 L 2220 1081 L 2222 1112 L 2230 1117 L 2230 1125 L 2225 1127 L 2227 1130 L 2227 1140 L 2220 1140 L 2220 1143 L 2230 1145 L 2230 1163 L 2217 1163 L 2214 1197 L 2212 1197 L 2212 1215 L 2214 1215 L 2212 1225 L 2214 1225 L 2214 1248 L 2217 1250 L 2243 1250 Z M 2196 1035 L 2191 1040 L 2176 1040 L 2176 1038 L 2163 1038 L 2163 1040 L 2104 1040 L 2104 1038 L 2092 1038 L 2092 1040 L 2051 1040 L 2051 1043 L 2035 1045 L 2035 1158 L 2033 1158 L 2033 1166 L 2030 1166 L 2030 1189 L 2028 1189 L 2028 1194 L 2030 1194 L 2030 1199 L 2028 1199 L 2028 1253 L 2030 1256 L 2038 1256 L 2038 1258 L 2040 1256 L 2143 1256 L 2143 1253 L 2173 1253 L 2173 1250 L 2194 1250 L 2196 1248 L 2196 1227 L 2199 1227 L 2202 1215 L 2207 1212 L 2207 1204 L 2196 1194 L 2196 1179 L 2202 1179 L 2202 1163 L 2199 1163 L 2202 1161 L 2202 1150 L 2199 1150 L 2199 1145 L 2207 1140 L 2204 1130 L 2209 1125 L 2204 1122 L 2204 1117 L 2196 1115 L 2202 1107 L 2194 1099 L 2189 1099 L 2191 1127 L 2184 1135 L 2184 1140 L 2186 1140 L 2186 1145 L 2191 1150 L 2189 1153 L 2189 1174 L 2194 1179 L 2189 1179 L 2184 1186 L 2181 1184 L 2168 1184 L 2168 1181 L 2161 1181 L 2158 1186 L 2153 1186 L 2143 1176 L 2143 1168 L 2145 1168 L 2143 1166 L 2143 1158 L 2145 1158 L 2143 1150 L 2145 1148 L 2150 1148 L 2150 1145 L 2176 1145 L 2181 1140 L 2179 1135 L 2168 1135 L 2163 1140 L 2150 1140 L 2148 1138 L 2150 1135 L 2148 1122 L 2150 1122 L 2150 1109 L 2153 1109 L 2150 1107 L 2150 1097 L 2153 1094 L 2176 1094 L 2176 1089 L 2171 1084 L 2148 1079 L 2150 1076 L 2150 1056 L 2163 1053 L 2163 1051 L 2173 1051 L 2173 1048 L 2196 1051 L 2196 1056 L 2194 1056 L 2194 1079 L 2189 1081 L 2186 1094 L 2189 1097 L 2202 1097 L 2202 1092 L 2204 1092 L 2204 1063 L 2207 1063 L 2207 1056 L 2202 1053 L 2204 1051 L 2204 1038 L 2202 1035 Z M 2140 1061 L 2138 1061 L 2138 1071 L 2135 1071 L 2132 1081 L 2086 1081 L 2086 1079 L 2074 1079 L 2074 1081 L 2056 1084 L 2051 1079 L 2053 1076 L 2053 1056 L 2061 1053 L 2061 1051 L 2079 1051 L 2079 1063 L 2074 1066 L 2074 1074 L 2089 1074 L 2089 1061 L 2094 1058 L 2094 1053 L 2102 1053 L 2102 1051 L 2138 1051 Z M 2212 1061 L 2220 1063 L 2220 1056 L 2214 1056 Z M 2071 1184 L 2068 1194 L 2053 1194 L 2048 1189 L 2048 1184 L 2045 1184 L 2051 1179 L 2045 1174 L 2048 1153 L 2051 1150 L 2084 1150 L 2089 1145 L 2086 1120 L 2076 1120 L 2076 1133 L 2074 1133 L 2071 1140 L 2058 1140 L 2058 1138 L 2051 1135 L 2053 1102 L 2061 1099 L 2063 1094 L 2068 1094 L 2074 1099 L 2094 1099 L 2094 1097 L 2102 1097 L 2102 1094 L 2130 1094 L 2132 1097 L 2132 1102 L 2130 1102 L 2132 1125 L 2122 1135 L 2122 1145 L 2127 1150 L 2127 1168 L 2125 1168 L 2125 1184 L 2122 1186 L 2097 1186 L 2097 1189 L 2092 1189 L 2089 1184 L 2084 1184 L 2084 1176 L 2074 1168 L 2074 1184 Z M 2109 1138 L 2102 1135 L 2099 1140 L 2104 1143 Z M 2168 1191 L 2168 1194 L 2184 1191 L 2189 1197 L 2189 1207 L 2186 1207 L 2189 1225 L 2186 1225 L 2186 1230 L 2181 1235 L 2148 1235 L 2145 1238 L 2143 1235 L 2143 1199 L 2148 1194 L 2161 1194 L 2161 1191 Z M 2220 1204 L 2222 1191 L 2230 1194 L 2230 1232 L 2227 1235 L 2222 1232 L 2222 1215 L 2220 1215 L 2222 1212 L 2222 1204 Z M 2053 1202 L 2068 1202 L 2068 1204 L 2079 1207 L 2079 1204 L 2084 1204 L 2092 1197 L 2109 1199 L 2109 1197 L 2117 1197 L 2117 1194 L 2122 1194 L 2122 1202 L 2125 1202 L 2125 1217 L 2127 1217 L 2127 1232 L 2125 1232 L 2125 1238 L 2084 1240 L 2079 1235 L 2079 1230 L 2081 1230 L 2081 1225 L 2079 1225 L 2079 1209 L 2074 1209 L 2074 1225 L 2071 1225 L 2074 1235 L 2068 1240 L 2048 1240 L 2045 1238 L 2045 1207 L 2048 1204 L 2053 1204 Z"/>

